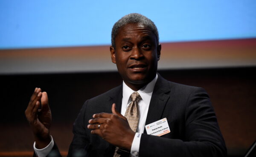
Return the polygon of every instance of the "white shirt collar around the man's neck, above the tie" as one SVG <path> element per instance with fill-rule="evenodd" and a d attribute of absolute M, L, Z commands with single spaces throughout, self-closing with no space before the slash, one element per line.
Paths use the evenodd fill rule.
<path fill-rule="evenodd" d="M 157 82 L 157 78 L 158 76 L 156 75 L 156 77 L 149 82 L 147 85 L 145 85 L 144 87 L 142 87 L 140 90 L 138 90 L 137 92 L 140 94 L 142 100 L 145 102 L 145 104 L 150 103 L 151 100 L 151 96 L 154 90 L 154 85 Z M 131 102 L 131 100 L 129 99 L 131 94 L 134 93 L 135 91 L 132 90 L 130 87 L 128 87 L 125 82 L 123 81 L 123 102 L 129 104 Z"/>

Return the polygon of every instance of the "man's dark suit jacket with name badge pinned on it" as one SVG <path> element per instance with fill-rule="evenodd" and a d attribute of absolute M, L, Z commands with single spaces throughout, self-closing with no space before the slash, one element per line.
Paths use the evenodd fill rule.
<path fill-rule="evenodd" d="M 68 156 L 113 157 L 115 146 L 90 134 L 87 124 L 92 115 L 121 110 L 122 85 L 87 100 L 73 126 Z M 215 112 L 204 89 L 173 83 L 158 74 L 145 125 L 167 118 L 170 133 L 161 137 L 144 133 L 140 157 L 224 157 L 224 139 Z"/>

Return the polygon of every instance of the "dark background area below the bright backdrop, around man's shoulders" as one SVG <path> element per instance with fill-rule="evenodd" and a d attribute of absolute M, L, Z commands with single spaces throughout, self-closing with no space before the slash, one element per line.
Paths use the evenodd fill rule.
<path fill-rule="evenodd" d="M 207 90 L 228 155 L 243 156 L 256 140 L 256 67 L 159 70 L 163 78 Z M 122 83 L 117 72 L 0 75 L 0 156 L 29 156 L 33 136 L 24 111 L 35 87 L 47 91 L 51 134 L 62 154 L 84 101 Z"/>

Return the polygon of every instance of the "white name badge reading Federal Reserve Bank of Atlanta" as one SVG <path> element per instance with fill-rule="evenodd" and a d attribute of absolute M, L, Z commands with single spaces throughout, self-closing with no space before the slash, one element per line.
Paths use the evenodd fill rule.
<path fill-rule="evenodd" d="M 171 132 L 166 118 L 150 123 L 145 128 L 148 135 L 162 136 Z"/>

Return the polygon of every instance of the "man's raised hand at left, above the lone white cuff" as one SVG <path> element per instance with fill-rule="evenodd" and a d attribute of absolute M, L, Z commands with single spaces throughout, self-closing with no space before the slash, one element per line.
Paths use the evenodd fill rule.
<path fill-rule="evenodd" d="M 45 148 L 51 141 L 49 129 L 52 123 L 52 114 L 46 92 L 42 93 L 40 88 L 35 88 L 25 115 L 34 133 L 36 148 Z"/>

